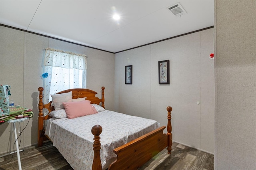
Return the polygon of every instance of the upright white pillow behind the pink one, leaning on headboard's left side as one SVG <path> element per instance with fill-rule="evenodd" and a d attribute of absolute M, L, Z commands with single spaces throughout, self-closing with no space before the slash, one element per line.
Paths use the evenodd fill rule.
<path fill-rule="evenodd" d="M 64 109 L 62 102 L 72 102 L 72 91 L 51 96 L 54 110 Z"/>

